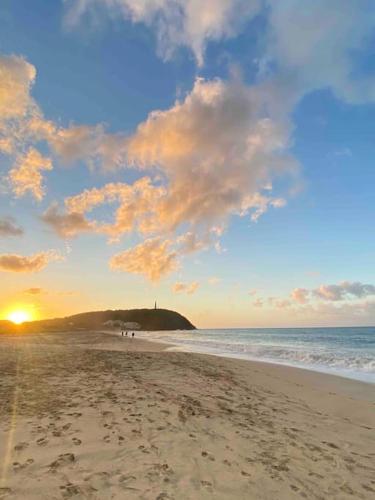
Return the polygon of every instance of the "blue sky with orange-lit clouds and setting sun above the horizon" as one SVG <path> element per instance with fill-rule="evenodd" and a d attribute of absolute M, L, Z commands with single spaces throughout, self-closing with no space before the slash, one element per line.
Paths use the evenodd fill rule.
<path fill-rule="evenodd" d="M 372 0 L 3 0 L 0 318 L 375 324 Z"/>

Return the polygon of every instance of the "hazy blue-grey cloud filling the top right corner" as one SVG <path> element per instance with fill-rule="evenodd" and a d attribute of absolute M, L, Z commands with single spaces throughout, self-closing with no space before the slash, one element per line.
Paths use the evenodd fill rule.
<path fill-rule="evenodd" d="M 349 102 L 375 99 L 375 77 L 358 67 L 375 28 L 371 0 L 268 0 L 268 5 L 267 57 L 278 85 L 300 96 L 331 88 Z"/>

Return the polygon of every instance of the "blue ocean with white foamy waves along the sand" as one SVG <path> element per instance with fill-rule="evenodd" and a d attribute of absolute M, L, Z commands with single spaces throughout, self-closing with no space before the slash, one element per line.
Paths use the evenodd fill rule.
<path fill-rule="evenodd" d="M 332 373 L 375 383 L 375 327 L 137 332 L 171 348 Z M 173 347 L 172 347 L 173 346 Z"/>

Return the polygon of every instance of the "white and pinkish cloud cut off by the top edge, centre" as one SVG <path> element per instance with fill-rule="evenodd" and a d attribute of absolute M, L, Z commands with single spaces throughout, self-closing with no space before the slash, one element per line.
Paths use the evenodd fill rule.
<path fill-rule="evenodd" d="M 158 53 L 170 59 L 178 47 L 188 47 L 203 64 L 208 41 L 236 35 L 260 11 L 260 0 L 67 0 L 65 21 L 72 27 L 104 7 L 111 16 L 143 23 L 156 34 Z M 102 12 L 98 14 L 102 16 Z"/>

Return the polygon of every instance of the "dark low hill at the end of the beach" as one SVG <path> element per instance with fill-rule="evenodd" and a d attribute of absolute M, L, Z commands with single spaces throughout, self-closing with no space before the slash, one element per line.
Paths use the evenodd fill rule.
<path fill-rule="evenodd" d="M 135 329 L 137 323 L 140 330 L 195 330 L 190 321 L 175 311 L 168 309 L 128 309 L 93 311 L 65 318 L 45 319 L 41 321 L 25 322 L 14 325 L 10 321 L 0 321 L 0 333 L 35 332 L 35 331 L 63 331 L 63 330 L 100 330 L 103 328 L 121 328 L 123 325 L 129 330 Z"/>

